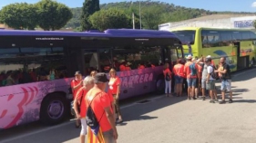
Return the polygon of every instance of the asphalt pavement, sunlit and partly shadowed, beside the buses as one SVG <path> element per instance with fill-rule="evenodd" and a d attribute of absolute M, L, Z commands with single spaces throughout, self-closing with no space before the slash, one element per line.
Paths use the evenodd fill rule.
<path fill-rule="evenodd" d="M 255 143 L 256 69 L 236 72 L 233 103 L 152 96 L 122 106 L 118 143 Z M 220 83 L 217 83 L 220 87 Z M 1 143 L 78 143 L 74 120 L 53 127 L 35 122 L 0 132 Z"/>

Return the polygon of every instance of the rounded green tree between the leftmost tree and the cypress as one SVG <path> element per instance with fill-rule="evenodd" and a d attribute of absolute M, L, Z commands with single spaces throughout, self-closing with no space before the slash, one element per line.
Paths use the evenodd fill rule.
<path fill-rule="evenodd" d="M 67 5 L 53 0 L 41 0 L 38 7 L 38 25 L 45 31 L 54 31 L 64 27 L 73 14 Z"/>

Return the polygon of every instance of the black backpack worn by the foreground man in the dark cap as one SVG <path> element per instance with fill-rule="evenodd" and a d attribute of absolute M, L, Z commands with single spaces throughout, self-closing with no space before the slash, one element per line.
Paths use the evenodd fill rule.
<path fill-rule="evenodd" d="M 94 98 L 96 98 L 97 95 Z M 97 129 L 97 127 L 99 127 L 99 121 L 102 119 L 103 114 L 105 112 L 104 111 L 102 113 L 100 119 L 97 121 L 97 117 L 96 117 L 96 115 L 95 115 L 95 113 L 94 113 L 94 111 L 92 110 L 92 107 L 91 107 L 91 103 L 94 100 L 94 98 L 91 100 L 91 102 L 89 103 L 89 106 L 87 107 L 87 117 L 86 117 L 87 126 L 90 127 L 91 129 Z"/>

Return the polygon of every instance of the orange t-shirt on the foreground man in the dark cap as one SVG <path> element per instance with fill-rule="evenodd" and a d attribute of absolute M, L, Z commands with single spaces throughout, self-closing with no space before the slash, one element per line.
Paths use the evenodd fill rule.
<path fill-rule="evenodd" d="M 103 132 L 112 129 L 105 112 L 106 108 L 110 108 L 111 110 L 109 97 L 106 92 L 97 89 L 87 92 L 87 106 L 90 104 Z M 113 112 L 113 110 L 111 111 Z"/>

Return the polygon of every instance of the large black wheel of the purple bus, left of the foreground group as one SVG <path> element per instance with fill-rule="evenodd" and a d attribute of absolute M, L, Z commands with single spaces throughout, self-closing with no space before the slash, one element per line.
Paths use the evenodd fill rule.
<path fill-rule="evenodd" d="M 53 93 L 42 101 L 40 120 L 47 125 L 61 122 L 67 114 L 67 100 L 64 96 Z"/>

